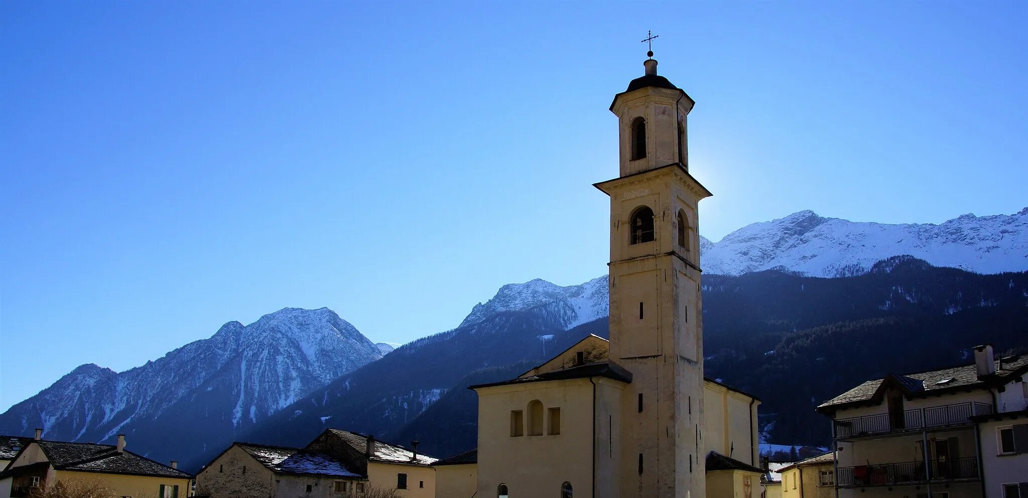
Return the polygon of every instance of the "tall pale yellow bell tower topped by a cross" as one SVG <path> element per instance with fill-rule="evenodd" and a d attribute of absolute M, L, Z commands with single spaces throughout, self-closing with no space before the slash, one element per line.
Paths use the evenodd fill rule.
<path fill-rule="evenodd" d="M 652 58 L 653 52 L 650 52 Z M 703 328 L 697 204 L 687 116 L 695 104 L 644 62 L 618 93 L 620 176 L 611 196 L 610 355 L 632 373 L 622 393 L 623 498 L 704 498 Z"/>

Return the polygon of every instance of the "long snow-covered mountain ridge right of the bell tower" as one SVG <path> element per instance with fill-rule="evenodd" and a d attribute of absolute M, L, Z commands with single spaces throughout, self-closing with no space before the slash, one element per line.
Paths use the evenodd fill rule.
<path fill-rule="evenodd" d="M 712 242 L 700 239 L 705 273 L 740 275 L 782 268 L 810 276 L 865 273 L 911 255 L 977 273 L 1028 270 L 1028 207 L 1014 215 L 963 215 L 940 225 L 858 223 L 802 210 L 754 223 Z"/>

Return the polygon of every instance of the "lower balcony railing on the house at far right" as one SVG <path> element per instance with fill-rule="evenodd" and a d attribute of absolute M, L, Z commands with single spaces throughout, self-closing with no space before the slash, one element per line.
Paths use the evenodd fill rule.
<path fill-rule="evenodd" d="M 929 475 L 931 482 L 981 477 L 978 459 L 968 457 L 929 460 L 927 474 L 924 461 L 839 467 L 836 485 L 840 488 L 918 485 L 927 483 Z"/>

